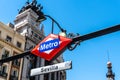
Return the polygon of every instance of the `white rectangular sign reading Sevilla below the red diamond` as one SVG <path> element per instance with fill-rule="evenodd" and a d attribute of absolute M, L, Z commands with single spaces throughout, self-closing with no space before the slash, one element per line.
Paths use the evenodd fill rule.
<path fill-rule="evenodd" d="M 31 70 L 30 76 L 45 74 L 45 73 L 51 73 L 61 70 L 67 70 L 72 68 L 72 61 L 66 61 L 63 63 L 58 63 L 50 66 L 35 68 Z"/>

